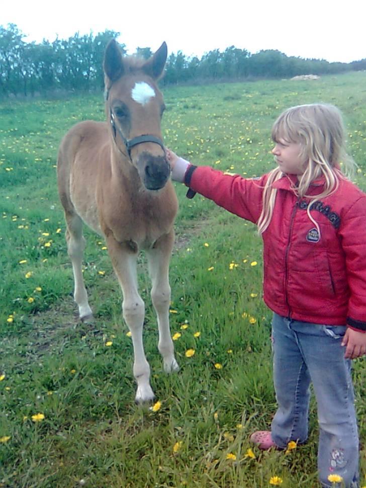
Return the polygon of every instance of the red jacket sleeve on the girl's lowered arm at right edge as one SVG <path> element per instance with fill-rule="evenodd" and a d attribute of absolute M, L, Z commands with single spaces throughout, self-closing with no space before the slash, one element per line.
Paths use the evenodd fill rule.
<path fill-rule="evenodd" d="M 342 215 L 339 229 L 350 290 L 347 324 L 366 332 L 366 195 Z"/>

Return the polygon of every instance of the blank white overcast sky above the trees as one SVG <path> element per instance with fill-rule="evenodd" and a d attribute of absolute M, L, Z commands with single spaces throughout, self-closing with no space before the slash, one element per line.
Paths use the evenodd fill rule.
<path fill-rule="evenodd" d="M 114 30 L 129 54 L 166 41 L 169 53 L 198 57 L 232 45 L 330 62 L 366 57 L 364 0 L 8 0 L 0 25 L 8 23 L 27 42 Z"/>

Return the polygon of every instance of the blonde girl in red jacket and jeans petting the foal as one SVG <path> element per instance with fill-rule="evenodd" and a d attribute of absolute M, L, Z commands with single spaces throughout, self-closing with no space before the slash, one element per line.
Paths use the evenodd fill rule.
<path fill-rule="evenodd" d="M 286 110 L 272 128 L 277 168 L 259 179 L 196 167 L 167 150 L 172 179 L 254 222 L 263 239 L 264 301 L 273 311 L 278 410 L 260 449 L 308 437 L 310 382 L 319 420 L 324 487 L 358 487 L 351 359 L 366 354 L 366 195 L 341 172 L 341 115 L 331 105 Z M 336 476 L 331 476 L 336 475 Z"/>

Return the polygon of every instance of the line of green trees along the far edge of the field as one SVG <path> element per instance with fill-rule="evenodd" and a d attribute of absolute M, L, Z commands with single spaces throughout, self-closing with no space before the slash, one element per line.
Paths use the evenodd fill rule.
<path fill-rule="evenodd" d="M 0 96 L 34 96 L 55 91 L 95 91 L 103 88 L 103 56 L 107 43 L 119 32 L 106 30 L 94 36 L 76 33 L 69 39 L 27 43 L 15 24 L 0 26 Z M 121 44 L 126 53 L 126 44 Z M 149 47 L 138 48 L 148 58 Z M 215 49 L 201 59 L 182 51 L 168 56 L 162 84 L 207 83 L 248 78 L 288 78 L 301 74 L 334 74 L 366 69 L 366 58 L 351 63 L 304 59 L 278 50 L 251 54 L 230 46 Z"/>

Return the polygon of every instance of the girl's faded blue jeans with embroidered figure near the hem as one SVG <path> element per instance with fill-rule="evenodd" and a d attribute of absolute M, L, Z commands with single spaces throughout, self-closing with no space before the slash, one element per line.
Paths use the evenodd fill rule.
<path fill-rule="evenodd" d="M 279 407 L 271 433 L 281 448 L 290 441 L 306 441 L 312 382 L 318 406 L 320 482 L 324 487 L 334 486 L 328 476 L 338 474 L 347 488 L 358 488 L 351 361 L 344 359 L 345 347 L 341 346 L 345 330 L 345 326 L 299 322 L 273 314 L 273 378 Z"/>

